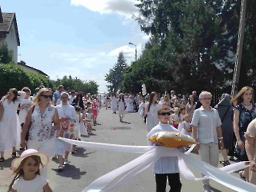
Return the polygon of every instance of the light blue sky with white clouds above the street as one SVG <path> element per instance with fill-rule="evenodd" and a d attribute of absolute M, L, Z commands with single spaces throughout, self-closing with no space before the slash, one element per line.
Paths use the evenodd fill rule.
<path fill-rule="evenodd" d="M 21 46 L 18 54 L 27 65 L 51 79 L 71 74 L 94 80 L 107 91 L 104 76 L 123 51 L 128 65 L 148 41 L 131 13 L 137 0 L 8 0 L 2 12 L 15 12 Z M 20 57 L 18 56 L 18 61 Z"/>

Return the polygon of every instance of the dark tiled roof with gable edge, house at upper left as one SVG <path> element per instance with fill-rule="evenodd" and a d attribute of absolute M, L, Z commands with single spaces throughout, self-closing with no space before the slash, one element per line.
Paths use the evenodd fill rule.
<path fill-rule="evenodd" d="M 1 12 L 0 12 L 1 14 Z M 1 17 L 1 16 L 0 16 Z M 18 46 L 21 45 L 19 41 L 19 35 L 18 35 L 18 25 L 16 20 L 15 13 L 2 13 L 3 22 L 0 22 L 0 37 L 6 38 L 6 35 L 10 32 L 12 27 L 12 22 L 15 25 L 15 34 L 17 38 Z"/>

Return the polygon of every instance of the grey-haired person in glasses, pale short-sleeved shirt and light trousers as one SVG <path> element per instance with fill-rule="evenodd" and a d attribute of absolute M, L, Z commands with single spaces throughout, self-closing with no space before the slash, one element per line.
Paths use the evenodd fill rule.
<path fill-rule="evenodd" d="M 221 119 L 218 111 L 210 106 L 211 97 L 211 93 L 207 91 L 201 92 L 199 99 L 202 106 L 194 111 L 191 125 L 193 127 L 193 137 L 198 143 L 195 148 L 199 151 L 201 161 L 218 167 L 218 139 L 221 149 L 224 145 Z M 211 191 L 209 180 L 203 180 L 202 182 L 204 191 Z"/>

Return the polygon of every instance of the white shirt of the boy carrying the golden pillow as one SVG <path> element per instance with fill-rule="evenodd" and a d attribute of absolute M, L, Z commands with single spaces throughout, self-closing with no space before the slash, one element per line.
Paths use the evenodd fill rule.
<path fill-rule="evenodd" d="M 175 131 L 179 132 L 175 127 L 172 127 L 170 124 L 162 124 L 161 122 L 151 129 L 147 134 L 147 137 L 158 133 L 160 131 Z M 155 145 L 154 142 L 148 141 L 148 145 Z M 183 151 L 183 149 L 181 149 Z M 155 161 L 153 166 L 153 174 L 175 174 L 179 173 L 178 169 L 178 157 L 161 157 L 158 161 Z"/>

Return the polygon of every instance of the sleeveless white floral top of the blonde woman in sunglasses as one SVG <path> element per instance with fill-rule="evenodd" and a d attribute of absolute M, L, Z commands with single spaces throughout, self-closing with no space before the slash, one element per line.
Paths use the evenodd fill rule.
<path fill-rule="evenodd" d="M 28 139 L 31 141 L 45 141 L 54 137 L 54 129 L 52 127 L 52 119 L 55 114 L 55 107 L 49 104 L 45 109 L 45 113 L 41 114 L 38 105 L 32 113 L 32 122 L 29 128 Z"/>

